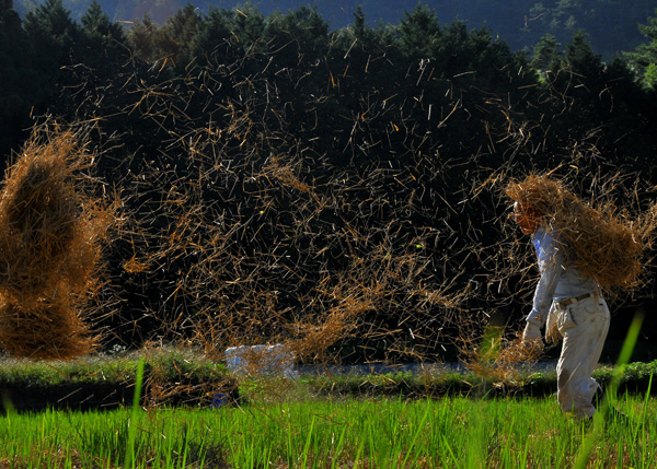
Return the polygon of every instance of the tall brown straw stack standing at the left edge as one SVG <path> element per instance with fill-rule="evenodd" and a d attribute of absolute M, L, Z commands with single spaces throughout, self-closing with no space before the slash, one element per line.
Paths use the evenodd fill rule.
<path fill-rule="evenodd" d="M 35 132 L 0 192 L 0 347 L 14 356 L 71 359 L 95 344 L 80 308 L 113 216 L 84 195 L 79 139 Z"/>

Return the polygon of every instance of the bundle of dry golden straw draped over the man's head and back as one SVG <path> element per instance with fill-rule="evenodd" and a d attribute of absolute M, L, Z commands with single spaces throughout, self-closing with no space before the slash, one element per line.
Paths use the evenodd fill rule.
<path fill-rule="evenodd" d="M 611 203 L 587 206 L 563 183 L 543 175 L 511 181 L 505 189 L 541 213 L 548 228 L 558 233 L 557 243 L 566 260 L 602 289 L 631 290 L 642 286 L 644 253 L 655 227 L 655 211 L 631 220 Z"/>

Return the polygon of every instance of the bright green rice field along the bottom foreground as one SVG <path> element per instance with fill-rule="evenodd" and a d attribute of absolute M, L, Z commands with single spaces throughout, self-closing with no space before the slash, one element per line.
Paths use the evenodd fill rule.
<path fill-rule="evenodd" d="M 657 406 L 592 422 L 554 398 L 330 399 L 290 389 L 217 409 L 9 412 L 2 468 L 652 468 Z"/>

